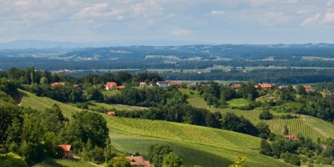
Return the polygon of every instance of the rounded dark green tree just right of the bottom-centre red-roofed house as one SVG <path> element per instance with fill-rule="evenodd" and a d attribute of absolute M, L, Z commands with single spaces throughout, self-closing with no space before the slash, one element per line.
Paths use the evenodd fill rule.
<path fill-rule="evenodd" d="M 164 161 L 164 156 L 172 152 L 169 145 L 151 145 L 150 161 L 155 167 L 161 167 Z"/>

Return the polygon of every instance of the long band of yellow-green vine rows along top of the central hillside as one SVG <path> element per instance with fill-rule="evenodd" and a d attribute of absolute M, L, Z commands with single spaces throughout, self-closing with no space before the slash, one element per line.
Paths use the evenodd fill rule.
<path fill-rule="evenodd" d="M 175 141 L 191 141 L 210 145 L 229 145 L 243 148 L 258 148 L 260 138 L 194 125 L 186 125 L 167 121 L 139 120 L 130 118 L 107 117 L 109 129 L 121 129 L 125 132 L 135 132 L 145 136 L 168 138 Z"/>

